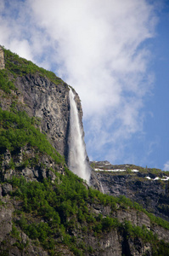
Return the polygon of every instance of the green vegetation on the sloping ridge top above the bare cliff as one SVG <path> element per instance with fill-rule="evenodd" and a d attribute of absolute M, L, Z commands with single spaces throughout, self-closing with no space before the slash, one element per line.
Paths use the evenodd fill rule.
<path fill-rule="evenodd" d="M 37 67 L 36 64 L 32 63 L 31 61 L 27 61 L 24 58 L 20 58 L 19 55 L 12 53 L 9 49 L 5 49 L 3 47 L 3 51 L 5 69 L 7 69 L 9 73 L 12 73 L 14 78 L 26 74 L 40 73 L 43 77 L 47 77 L 54 82 L 54 84 L 63 83 L 63 80 L 59 79 L 53 72 L 47 71 L 42 67 Z"/>

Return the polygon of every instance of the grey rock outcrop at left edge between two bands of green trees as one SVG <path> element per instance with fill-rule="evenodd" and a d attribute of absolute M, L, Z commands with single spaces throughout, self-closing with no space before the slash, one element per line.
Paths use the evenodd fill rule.
<path fill-rule="evenodd" d="M 12 179 L 12 177 L 20 176 L 25 177 L 27 181 L 42 182 L 44 178 L 48 177 L 54 181 L 56 176 L 51 170 L 57 170 L 59 173 L 64 172 L 64 166 L 56 164 L 47 154 L 41 154 L 29 146 L 18 148 L 13 154 L 7 149 L 3 154 L 0 153 L 0 160 L 1 180 L 3 182 Z M 28 165 L 28 161 L 31 164 Z M 2 195 L 8 195 L 11 190 L 10 184 L 3 183 Z"/>

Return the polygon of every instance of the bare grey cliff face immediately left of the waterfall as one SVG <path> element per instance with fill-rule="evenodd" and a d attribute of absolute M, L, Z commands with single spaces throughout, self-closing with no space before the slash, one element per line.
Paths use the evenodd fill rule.
<path fill-rule="evenodd" d="M 19 77 L 15 82 L 19 89 L 19 101 L 26 112 L 41 120 L 40 130 L 60 154 L 67 154 L 69 134 L 69 88 L 67 84 L 56 86 L 39 74 Z"/>

